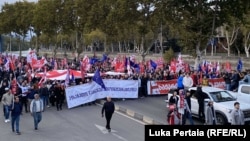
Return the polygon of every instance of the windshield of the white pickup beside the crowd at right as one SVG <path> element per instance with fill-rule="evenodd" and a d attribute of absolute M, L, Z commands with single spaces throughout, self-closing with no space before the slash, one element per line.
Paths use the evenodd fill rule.
<path fill-rule="evenodd" d="M 227 91 L 210 92 L 215 102 L 234 101 L 235 98 Z"/>

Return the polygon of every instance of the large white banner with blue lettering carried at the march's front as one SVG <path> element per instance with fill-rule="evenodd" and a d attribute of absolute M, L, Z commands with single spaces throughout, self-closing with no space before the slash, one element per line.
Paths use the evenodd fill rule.
<path fill-rule="evenodd" d="M 68 108 L 73 108 L 107 96 L 112 98 L 138 98 L 138 80 L 104 79 L 104 90 L 96 82 L 67 87 L 66 100 Z"/>

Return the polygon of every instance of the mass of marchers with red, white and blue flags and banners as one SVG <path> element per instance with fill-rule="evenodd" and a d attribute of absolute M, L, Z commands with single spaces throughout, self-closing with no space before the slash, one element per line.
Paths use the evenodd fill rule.
<path fill-rule="evenodd" d="M 232 69 L 229 62 L 220 65 L 219 62 L 206 60 L 199 64 L 198 70 L 194 70 L 182 59 L 181 54 L 170 62 L 165 62 L 162 57 L 142 62 L 136 60 L 135 55 L 111 58 L 106 54 L 101 58 L 94 54 L 68 60 L 38 57 L 35 50 L 29 49 L 26 57 L 1 54 L 0 63 L 1 84 L 5 83 L 1 85 L 1 95 L 5 87 L 9 87 L 14 95 L 20 95 L 18 84 L 27 86 L 29 93 L 32 89 L 38 91 L 46 84 L 51 97 L 54 87 L 59 84 L 68 108 L 106 96 L 139 98 L 167 94 L 169 90 L 178 87 L 177 80 L 184 73 L 190 73 L 193 86 L 202 84 L 222 89 L 226 88 L 225 74 L 238 71 L 241 77 L 244 75 L 241 60 L 237 70 Z M 53 105 L 53 98 L 50 102 Z"/>

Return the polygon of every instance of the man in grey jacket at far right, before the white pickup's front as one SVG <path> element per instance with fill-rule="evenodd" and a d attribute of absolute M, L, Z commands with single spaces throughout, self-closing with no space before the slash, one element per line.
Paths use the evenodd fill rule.
<path fill-rule="evenodd" d="M 244 125 L 245 124 L 244 113 L 240 109 L 239 102 L 234 103 L 234 110 L 231 113 L 231 117 L 232 117 L 232 122 L 231 122 L 232 125 Z"/>

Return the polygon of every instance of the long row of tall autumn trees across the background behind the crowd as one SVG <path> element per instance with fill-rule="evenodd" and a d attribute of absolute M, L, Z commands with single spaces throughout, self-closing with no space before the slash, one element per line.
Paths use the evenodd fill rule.
<path fill-rule="evenodd" d="M 242 46 L 237 42 L 235 47 L 243 47 L 249 57 L 249 11 L 248 0 L 24 0 L 3 5 L 0 34 L 24 41 L 34 32 L 34 46 L 53 45 L 55 53 L 63 42 L 79 53 L 94 43 L 103 43 L 105 52 L 114 51 L 115 45 L 128 50 L 133 43 L 142 57 L 156 40 L 177 39 L 182 50 L 195 52 L 197 58 L 214 38 L 230 56 L 231 46 L 241 38 Z"/>

